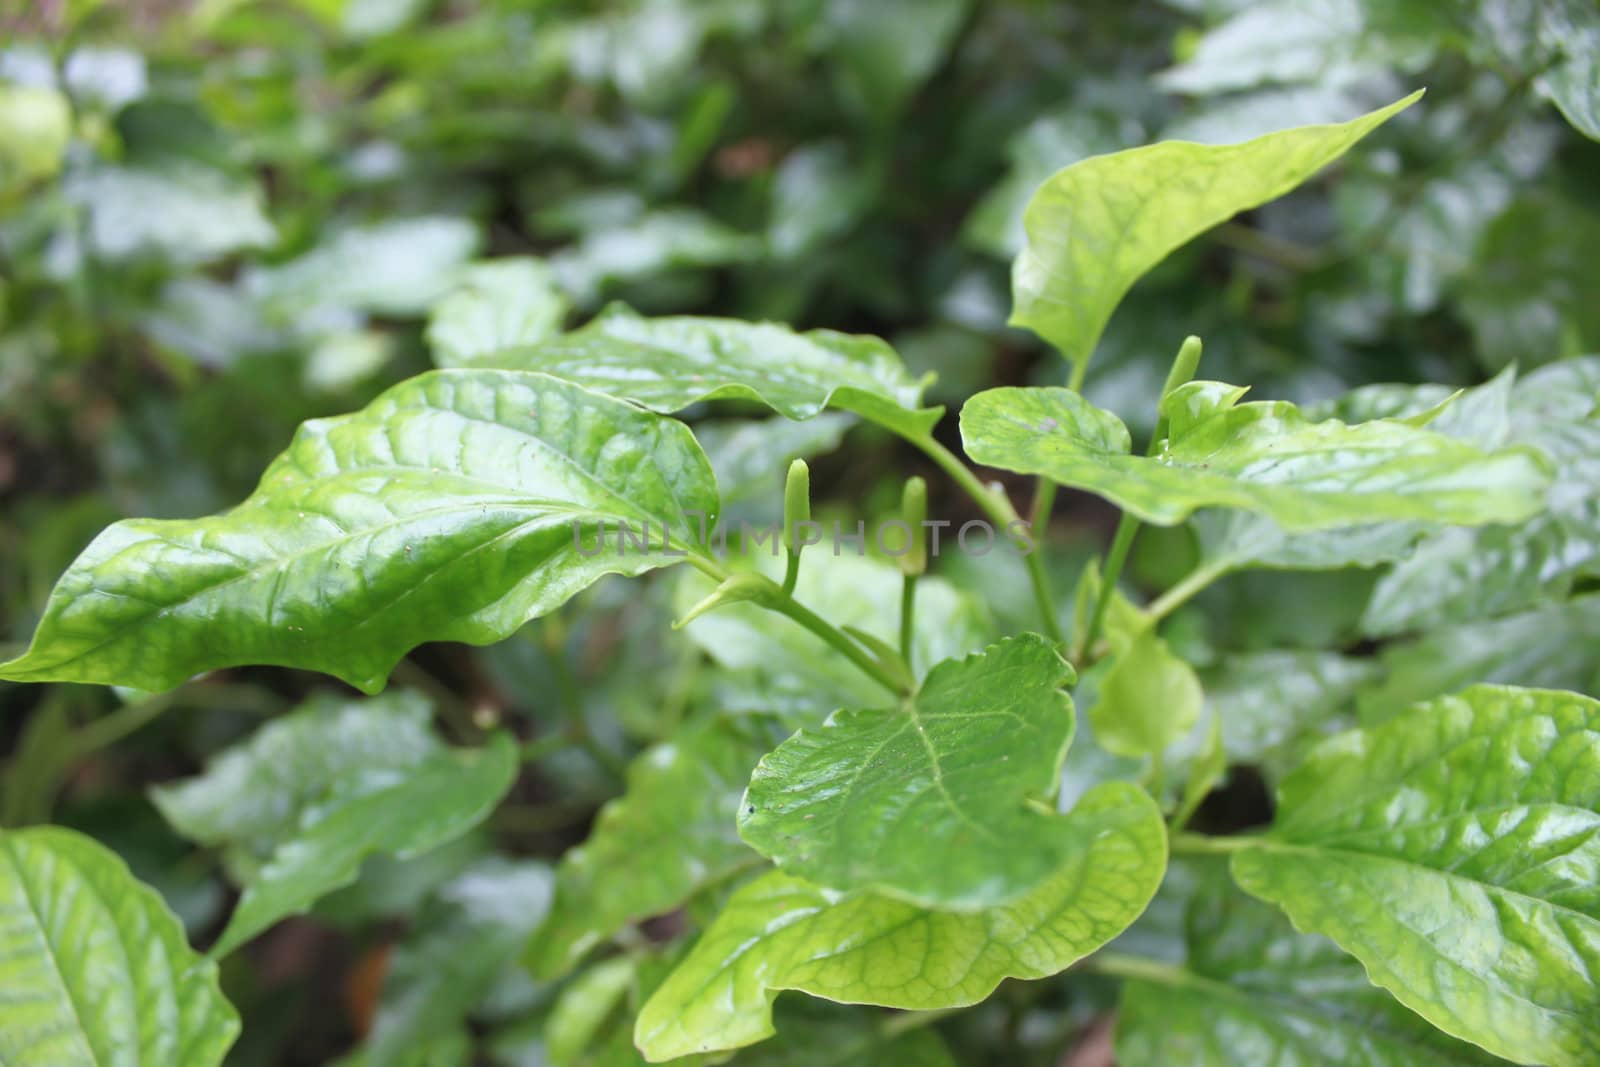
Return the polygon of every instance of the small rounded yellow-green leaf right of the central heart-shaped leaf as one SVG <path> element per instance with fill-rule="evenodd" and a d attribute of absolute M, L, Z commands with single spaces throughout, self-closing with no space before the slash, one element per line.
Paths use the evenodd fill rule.
<path fill-rule="evenodd" d="M 1112 646 L 1112 665 L 1088 710 L 1094 741 L 1122 757 L 1165 752 L 1200 721 L 1200 678 L 1154 629 L 1125 640 L 1114 635 Z"/>

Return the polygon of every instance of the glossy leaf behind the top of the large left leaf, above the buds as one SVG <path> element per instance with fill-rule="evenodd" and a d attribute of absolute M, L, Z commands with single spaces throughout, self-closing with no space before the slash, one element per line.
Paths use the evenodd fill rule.
<path fill-rule="evenodd" d="M 582 330 L 480 363 L 544 371 L 656 411 L 738 398 L 810 419 L 832 406 L 909 437 L 926 435 L 942 413 L 920 406 L 926 382 L 878 338 L 734 318 L 645 318 L 622 306 Z"/>

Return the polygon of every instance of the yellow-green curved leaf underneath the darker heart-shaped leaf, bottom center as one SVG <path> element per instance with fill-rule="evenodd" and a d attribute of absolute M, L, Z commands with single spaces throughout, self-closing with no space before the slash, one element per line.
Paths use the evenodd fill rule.
<path fill-rule="evenodd" d="M 1160 811 L 1136 785 L 1091 790 L 1067 822 L 1080 845 L 1066 865 L 986 912 L 842 894 L 782 872 L 752 881 L 645 1003 L 640 1051 L 662 1061 L 760 1041 L 786 989 L 938 1009 L 978 1003 L 1006 977 L 1066 969 L 1138 918 L 1166 867 Z"/>

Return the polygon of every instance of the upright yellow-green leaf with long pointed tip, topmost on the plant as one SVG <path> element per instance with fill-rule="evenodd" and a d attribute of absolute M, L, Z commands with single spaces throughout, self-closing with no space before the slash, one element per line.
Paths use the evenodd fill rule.
<path fill-rule="evenodd" d="M 1086 363 L 1123 294 L 1192 237 L 1282 197 L 1413 104 L 1334 126 L 1299 126 L 1243 144 L 1166 141 L 1096 155 L 1040 186 L 1011 269 L 1011 325 Z"/>

